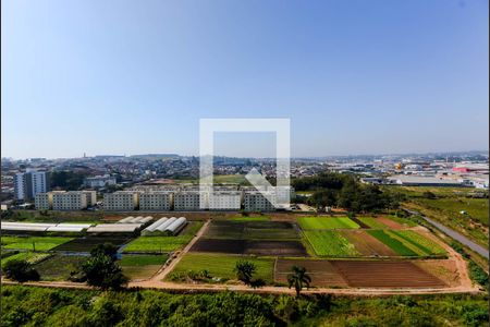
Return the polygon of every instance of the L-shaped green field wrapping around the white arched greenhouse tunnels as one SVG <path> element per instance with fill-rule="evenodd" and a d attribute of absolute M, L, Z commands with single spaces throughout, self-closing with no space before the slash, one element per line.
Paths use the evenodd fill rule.
<path fill-rule="evenodd" d="M 203 227 L 203 221 L 191 221 L 176 237 L 139 237 L 124 246 L 124 253 L 168 253 L 185 246 Z"/>

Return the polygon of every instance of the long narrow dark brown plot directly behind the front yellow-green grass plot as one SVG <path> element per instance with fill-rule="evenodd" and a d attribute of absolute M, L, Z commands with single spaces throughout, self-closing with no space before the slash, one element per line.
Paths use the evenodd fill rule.
<path fill-rule="evenodd" d="M 299 241 L 257 241 L 200 239 L 192 252 L 255 254 L 269 256 L 305 256 L 305 246 Z"/>

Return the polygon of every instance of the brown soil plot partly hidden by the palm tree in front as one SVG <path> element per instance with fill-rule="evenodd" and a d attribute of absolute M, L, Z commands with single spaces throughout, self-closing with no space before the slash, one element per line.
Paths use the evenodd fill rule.
<path fill-rule="evenodd" d="M 314 287 L 347 287 L 347 282 L 329 261 L 311 259 L 278 259 L 275 263 L 274 280 L 287 283 L 287 275 L 293 266 L 304 267 L 311 277 Z"/>

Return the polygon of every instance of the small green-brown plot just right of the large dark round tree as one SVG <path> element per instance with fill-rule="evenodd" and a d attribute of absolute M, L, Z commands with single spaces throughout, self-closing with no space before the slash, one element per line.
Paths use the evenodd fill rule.
<path fill-rule="evenodd" d="M 119 265 L 123 274 L 132 280 L 147 279 L 154 276 L 167 262 L 168 255 L 123 255 Z"/>

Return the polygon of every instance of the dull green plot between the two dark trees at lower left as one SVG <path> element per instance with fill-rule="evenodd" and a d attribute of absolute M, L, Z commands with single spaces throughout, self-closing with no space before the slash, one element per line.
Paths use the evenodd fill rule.
<path fill-rule="evenodd" d="M 82 255 L 56 254 L 38 263 L 35 268 L 41 280 L 66 280 L 70 272 L 77 271 L 87 258 L 88 256 Z"/>

